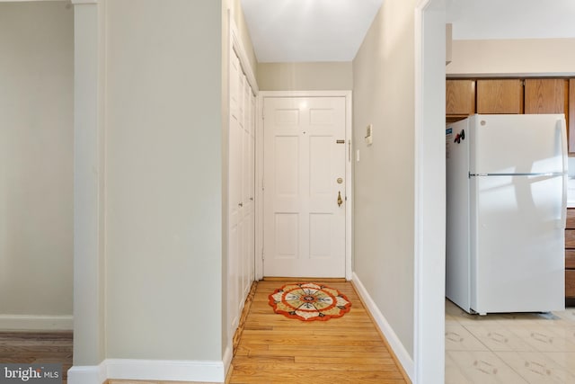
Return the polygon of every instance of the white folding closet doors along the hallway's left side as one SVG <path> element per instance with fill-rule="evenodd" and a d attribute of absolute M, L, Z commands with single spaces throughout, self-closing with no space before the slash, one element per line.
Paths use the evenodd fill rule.
<path fill-rule="evenodd" d="M 228 177 L 228 311 L 231 330 L 242 313 L 254 280 L 255 96 L 239 58 L 230 59 L 230 121 Z"/>

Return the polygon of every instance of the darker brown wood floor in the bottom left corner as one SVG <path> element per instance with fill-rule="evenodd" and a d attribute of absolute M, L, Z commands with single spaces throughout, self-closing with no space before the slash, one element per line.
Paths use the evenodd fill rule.
<path fill-rule="evenodd" d="M 72 332 L 0 332 L 0 362 L 62 364 L 63 384 L 72 366 Z"/>

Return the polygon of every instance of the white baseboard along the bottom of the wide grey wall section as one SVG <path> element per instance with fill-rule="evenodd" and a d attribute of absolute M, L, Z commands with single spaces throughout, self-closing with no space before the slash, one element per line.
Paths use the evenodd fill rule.
<path fill-rule="evenodd" d="M 223 383 L 226 367 L 223 361 L 106 359 L 97 366 L 68 371 L 68 384 L 102 384 L 109 379 Z"/>

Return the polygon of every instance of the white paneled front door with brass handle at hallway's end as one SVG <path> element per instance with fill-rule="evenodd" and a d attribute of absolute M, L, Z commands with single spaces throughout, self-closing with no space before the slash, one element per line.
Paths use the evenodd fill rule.
<path fill-rule="evenodd" d="M 345 277 L 345 108 L 264 99 L 264 276 Z"/>

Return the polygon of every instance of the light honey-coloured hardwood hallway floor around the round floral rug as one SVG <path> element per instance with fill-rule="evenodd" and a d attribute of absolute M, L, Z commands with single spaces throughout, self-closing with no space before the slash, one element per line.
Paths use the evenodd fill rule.
<path fill-rule="evenodd" d="M 268 304 L 268 296 L 288 282 L 258 282 L 226 382 L 409 382 L 349 281 L 324 283 L 348 297 L 349 313 L 309 322 L 275 314 Z"/>

